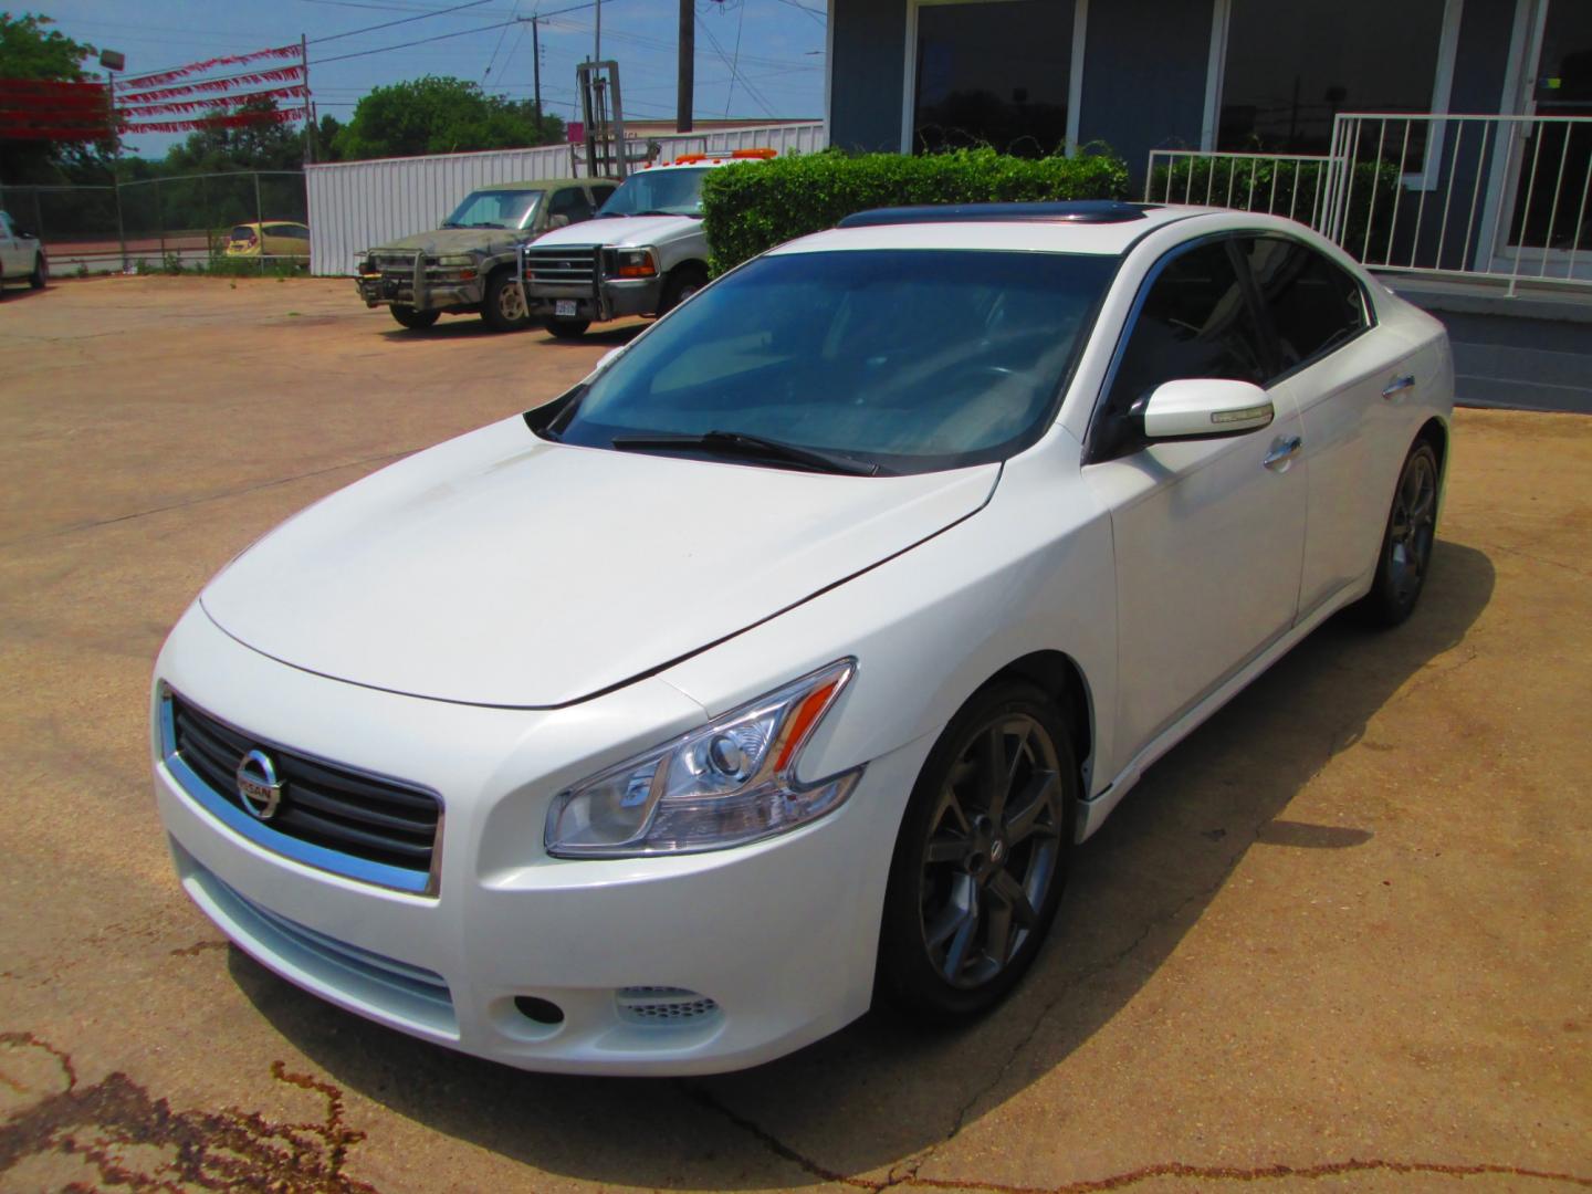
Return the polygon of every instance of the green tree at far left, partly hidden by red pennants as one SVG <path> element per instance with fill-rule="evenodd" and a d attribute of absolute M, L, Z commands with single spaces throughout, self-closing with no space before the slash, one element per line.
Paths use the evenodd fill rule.
<path fill-rule="evenodd" d="M 0 78 L 88 83 L 83 60 L 99 51 L 73 41 L 48 16 L 0 13 Z M 105 181 L 116 139 L 100 142 L 0 142 L 0 178 L 8 183 Z"/>

